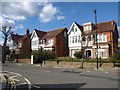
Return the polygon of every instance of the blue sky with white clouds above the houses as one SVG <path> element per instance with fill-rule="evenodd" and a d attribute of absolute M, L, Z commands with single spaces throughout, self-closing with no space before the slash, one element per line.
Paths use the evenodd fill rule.
<path fill-rule="evenodd" d="M 118 2 L 2 2 L 0 27 L 12 27 L 14 33 L 25 34 L 29 28 L 50 31 L 70 28 L 73 21 L 80 25 L 95 21 L 93 10 L 97 11 L 97 23 L 116 20 L 118 24 Z M 118 26 L 120 26 L 118 24 Z M 0 28 L 2 29 L 2 28 Z M 2 40 L 2 39 L 0 39 Z M 2 41 L 0 41 L 2 42 Z"/>

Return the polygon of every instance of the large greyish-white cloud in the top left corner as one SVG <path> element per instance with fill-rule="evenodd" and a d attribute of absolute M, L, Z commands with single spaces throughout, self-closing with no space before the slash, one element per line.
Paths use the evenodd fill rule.
<path fill-rule="evenodd" d="M 34 16 L 40 11 L 38 3 L 34 2 L 3 2 L 2 14 L 12 20 L 25 20 L 27 16 Z"/>

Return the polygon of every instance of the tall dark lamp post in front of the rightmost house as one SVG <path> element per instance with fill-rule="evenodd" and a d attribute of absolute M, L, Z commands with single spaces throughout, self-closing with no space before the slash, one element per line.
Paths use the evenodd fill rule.
<path fill-rule="evenodd" d="M 94 30 L 96 30 L 96 60 L 97 60 L 97 69 L 98 69 L 98 40 L 97 40 L 97 15 L 96 15 L 96 10 L 93 10 L 95 14 L 95 27 Z"/>

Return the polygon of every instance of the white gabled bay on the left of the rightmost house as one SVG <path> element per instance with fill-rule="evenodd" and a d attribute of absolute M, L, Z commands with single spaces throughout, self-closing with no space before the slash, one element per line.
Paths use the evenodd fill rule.
<path fill-rule="evenodd" d="M 68 31 L 68 47 L 69 47 L 69 56 L 74 57 L 75 52 L 82 49 L 81 45 L 81 36 L 83 32 L 83 27 L 78 23 L 73 22 L 69 31 Z"/>

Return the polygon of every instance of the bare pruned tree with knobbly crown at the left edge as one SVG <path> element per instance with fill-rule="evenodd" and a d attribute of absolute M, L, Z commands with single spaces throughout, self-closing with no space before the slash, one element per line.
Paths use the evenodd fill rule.
<path fill-rule="evenodd" d="M 6 61 L 6 46 L 7 46 L 7 40 L 9 38 L 9 35 L 12 33 L 11 29 L 12 29 L 11 27 L 8 28 L 7 26 L 3 26 L 2 30 L 0 30 L 4 35 L 2 63 L 5 63 Z"/>

